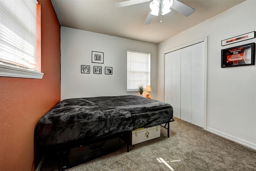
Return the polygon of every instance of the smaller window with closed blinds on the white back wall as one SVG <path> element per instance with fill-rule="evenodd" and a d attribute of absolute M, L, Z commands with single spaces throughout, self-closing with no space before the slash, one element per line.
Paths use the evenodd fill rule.
<path fill-rule="evenodd" d="M 127 91 L 150 85 L 150 54 L 127 51 Z"/>

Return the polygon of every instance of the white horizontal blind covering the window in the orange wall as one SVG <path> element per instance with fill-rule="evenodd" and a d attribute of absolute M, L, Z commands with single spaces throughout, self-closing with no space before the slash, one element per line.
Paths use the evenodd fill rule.
<path fill-rule="evenodd" d="M 36 0 L 0 0 L 0 64 L 38 71 L 37 3 Z"/>

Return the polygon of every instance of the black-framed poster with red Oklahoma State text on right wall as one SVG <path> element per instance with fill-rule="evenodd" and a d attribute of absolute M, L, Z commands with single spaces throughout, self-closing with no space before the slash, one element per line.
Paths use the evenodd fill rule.
<path fill-rule="evenodd" d="M 221 68 L 254 65 L 255 44 L 244 44 L 221 50 Z"/>

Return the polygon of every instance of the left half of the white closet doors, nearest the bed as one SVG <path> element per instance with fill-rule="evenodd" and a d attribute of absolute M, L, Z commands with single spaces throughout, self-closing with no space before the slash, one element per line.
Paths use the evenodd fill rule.
<path fill-rule="evenodd" d="M 173 107 L 173 115 L 180 119 L 180 53 L 165 54 L 165 102 Z"/>

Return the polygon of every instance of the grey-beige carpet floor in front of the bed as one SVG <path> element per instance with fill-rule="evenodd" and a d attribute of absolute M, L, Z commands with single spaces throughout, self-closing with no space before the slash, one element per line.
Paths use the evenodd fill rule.
<path fill-rule="evenodd" d="M 174 119 L 170 138 L 161 128 L 161 137 L 130 145 L 129 153 L 124 143 L 114 153 L 66 171 L 256 171 L 256 150 Z M 56 157 L 48 155 L 41 170 L 57 171 Z"/>

